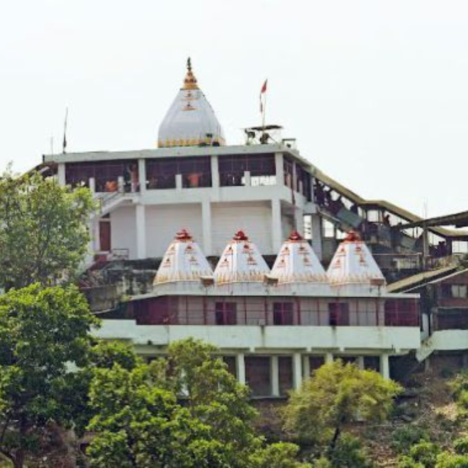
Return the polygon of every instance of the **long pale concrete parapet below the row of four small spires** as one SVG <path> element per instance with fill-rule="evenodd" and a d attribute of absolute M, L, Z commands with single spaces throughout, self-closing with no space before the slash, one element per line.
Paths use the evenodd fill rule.
<path fill-rule="evenodd" d="M 223 349 L 252 351 L 390 350 L 398 354 L 420 346 L 418 327 L 136 325 L 133 320 L 104 320 L 96 336 L 155 347 L 193 337 Z"/>

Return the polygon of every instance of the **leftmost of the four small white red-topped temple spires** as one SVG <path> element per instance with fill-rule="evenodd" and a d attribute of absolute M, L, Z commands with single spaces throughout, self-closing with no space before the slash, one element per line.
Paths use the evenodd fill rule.
<path fill-rule="evenodd" d="M 182 229 L 167 247 L 153 286 L 158 294 L 199 291 L 201 278 L 212 276 L 213 270 L 201 248 L 191 235 Z"/>

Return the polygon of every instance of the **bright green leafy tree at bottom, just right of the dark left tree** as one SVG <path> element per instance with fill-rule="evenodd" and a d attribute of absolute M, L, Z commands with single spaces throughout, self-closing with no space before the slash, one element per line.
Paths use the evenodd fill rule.
<path fill-rule="evenodd" d="M 91 407 L 96 433 L 88 449 L 91 465 L 111 467 L 230 467 L 225 449 L 208 425 L 177 404 L 153 381 L 152 366 L 132 370 L 115 364 L 96 369 Z"/>

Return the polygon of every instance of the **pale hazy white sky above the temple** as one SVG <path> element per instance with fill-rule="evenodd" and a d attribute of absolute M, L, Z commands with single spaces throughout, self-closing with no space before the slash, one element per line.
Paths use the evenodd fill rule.
<path fill-rule="evenodd" d="M 366 198 L 468 209 L 466 0 L 0 0 L 0 166 L 155 147 L 190 55 L 228 144 L 260 123 Z"/>

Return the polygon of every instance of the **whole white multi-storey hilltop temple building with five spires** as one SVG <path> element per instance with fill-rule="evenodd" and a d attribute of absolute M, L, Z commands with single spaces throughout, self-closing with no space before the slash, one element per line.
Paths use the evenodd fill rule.
<path fill-rule="evenodd" d="M 95 307 L 99 336 L 147 359 L 206 340 L 266 397 L 336 357 L 389 377 L 416 353 L 419 295 L 387 284 L 423 271 L 440 243 L 468 250 L 468 235 L 403 229 L 419 218 L 333 181 L 273 138 L 280 129 L 228 145 L 189 61 L 157 148 L 44 157 L 60 184 L 99 201 L 87 267 L 115 293 Z"/>

